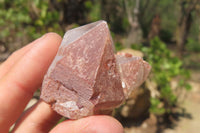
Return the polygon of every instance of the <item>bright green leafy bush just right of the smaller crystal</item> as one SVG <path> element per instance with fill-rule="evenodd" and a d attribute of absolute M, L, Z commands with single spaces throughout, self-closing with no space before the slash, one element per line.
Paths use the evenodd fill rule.
<path fill-rule="evenodd" d="M 142 51 L 152 66 L 151 80 L 156 82 L 157 90 L 160 92 L 160 96 L 151 98 L 150 111 L 155 114 L 171 113 L 172 108 L 177 104 L 177 96 L 174 94 L 170 82 L 173 78 L 180 77 L 177 89 L 189 90 L 191 87 L 185 81 L 190 74 L 182 68 L 183 62 L 177 57 L 173 57 L 166 44 L 157 37 L 151 40 L 150 47 L 144 47 Z"/>

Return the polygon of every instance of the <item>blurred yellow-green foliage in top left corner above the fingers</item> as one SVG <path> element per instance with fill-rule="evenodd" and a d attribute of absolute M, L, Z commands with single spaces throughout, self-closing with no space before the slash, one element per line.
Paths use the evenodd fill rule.
<path fill-rule="evenodd" d="M 51 31 L 62 34 L 59 13 L 50 8 L 48 1 L 1 0 L 0 18 L 0 40 L 5 43 L 30 41 Z"/>

